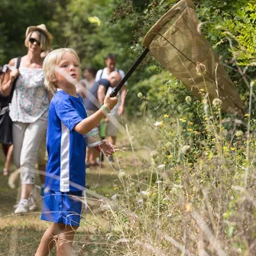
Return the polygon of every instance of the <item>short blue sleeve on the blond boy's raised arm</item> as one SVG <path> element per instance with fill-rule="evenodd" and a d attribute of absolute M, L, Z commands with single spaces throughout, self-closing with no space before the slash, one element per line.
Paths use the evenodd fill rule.
<path fill-rule="evenodd" d="M 60 99 L 55 102 L 55 111 L 60 121 L 63 122 L 70 131 L 83 120 L 69 99 Z"/>

